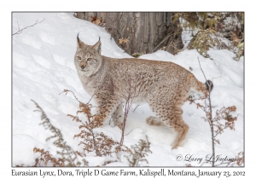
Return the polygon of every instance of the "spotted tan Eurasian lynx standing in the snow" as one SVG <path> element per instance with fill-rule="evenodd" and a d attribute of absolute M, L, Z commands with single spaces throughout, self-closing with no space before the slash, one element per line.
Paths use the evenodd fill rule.
<path fill-rule="evenodd" d="M 166 124 L 175 135 L 172 148 L 180 146 L 189 130 L 189 125 L 183 121 L 181 106 L 191 89 L 205 92 L 207 85 L 172 62 L 103 56 L 101 45 L 100 40 L 93 46 L 87 45 L 78 35 L 74 56 L 84 90 L 94 95 L 99 109 L 104 109 L 98 113 L 105 119 L 112 117 L 120 128 L 125 96 L 130 95 L 133 102 L 148 102 L 157 118 L 148 117 L 147 123 Z"/>

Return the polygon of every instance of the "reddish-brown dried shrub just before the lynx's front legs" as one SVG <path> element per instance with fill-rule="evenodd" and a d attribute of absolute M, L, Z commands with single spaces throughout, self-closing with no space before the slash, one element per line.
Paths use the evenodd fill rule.
<path fill-rule="evenodd" d="M 64 92 L 72 92 L 70 90 L 64 90 Z M 83 145 L 83 152 L 77 152 L 80 156 L 86 156 L 87 153 L 95 152 L 96 156 L 108 156 L 112 153 L 125 152 L 129 153 L 130 149 L 123 145 L 120 145 L 118 141 L 113 141 L 109 136 L 106 136 L 102 132 L 97 132 L 94 129 L 102 126 L 104 116 L 102 114 L 92 114 L 92 105 L 90 103 L 83 103 L 79 101 L 80 110 L 77 111 L 77 115 L 67 114 L 68 117 L 72 118 L 73 121 L 78 122 L 79 134 L 73 136 L 74 138 L 80 138 L 79 145 Z M 104 111 L 102 109 L 102 111 Z M 82 121 L 78 114 L 83 113 L 87 118 L 87 121 Z"/>

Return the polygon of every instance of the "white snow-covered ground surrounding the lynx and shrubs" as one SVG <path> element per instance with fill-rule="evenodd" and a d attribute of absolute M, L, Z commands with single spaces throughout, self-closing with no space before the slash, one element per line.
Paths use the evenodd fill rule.
<path fill-rule="evenodd" d="M 45 20 L 44 20 L 45 19 Z M 110 39 L 110 35 L 101 26 L 96 26 L 89 21 L 79 20 L 71 13 L 14 13 L 13 32 L 31 26 L 36 21 L 44 20 L 36 26 L 25 29 L 20 34 L 13 36 L 13 151 L 12 165 L 33 165 L 38 154 L 32 152 L 33 147 L 44 148 L 55 154 L 56 147 L 52 141 L 45 141 L 51 135 L 49 130 L 44 130 L 40 113 L 33 112 L 36 107 L 31 101 L 38 102 L 50 119 L 51 124 L 61 130 L 64 140 L 74 150 L 81 151 L 79 140 L 73 136 L 79 133 L 79 124 L 67 117 L 75 115 L 79 110 L 78 101 L 73 95 L 59 95 L 64 89 L 72 90 L 80 101 L 90 100 L 79 81 L 73 64 L 73 55 L 76 51 L 76 37 L 87 44 L 94 44 L 98 38 L 102 41 L 102 55 L 124 58 L 131 57 L 119 49 L 118 45 Z M 205 82 L 198 63 L 208 79 L 213 79 L 212 90 L 213 110 L 221 107 L 237 107 L 238 118 L 236 130 L 225 130 L 218 136 L 220 145 L 216 145 L 216 154 L 221 158 L 235 158 L 237 153 L 244 149 L 244 109 L 243 109 L 243 57 L 234 61 L 235 56 L 228 50 L 210 50 L 213 59 L 205 59 L 196 50 L 185 49 L 177 55 L 166 51 L 157 51 L 154 54 L 143 55 L 140 58 L 172 61 L 189 70 L 193 69 L 195 77 Z M 135 106 L 134 106 L 135 107 Z M 136 144 L 139 139 L 148 136 L 151 142 L 148 154 L 148 164 L 144 166 L 184 166 L 186 164 L 198 166 L 198 161 L 184 161 L 185 156 L 206 159 L 212 153 L 212 140 L 210 127 L 201 117 L 205 115 L 195 104 L 183 105 L 183 119 L 189 124 L 189 133 L 182 147 L 172 150 L 172 131 L 165 126 L 149 126 L 145 118 L 154 115 L 147 104 L 133 108 L 128 116 L 124 144 L 127 147 Z M 121 132 L 118 127 L 104 124 L 97 131 L 111 136 L 119 141 Z M 183 156 L 182 161 L 177 161 L 177 155 Z M 87 157 L 89 165 L 102 165 L 104 159 Z M 90 162 L 91 161 L 91 162 Z M 97 163 L 98 161 L 98 163 Z M 126 159 L 120 158 L 119 162 L 109 166 L 129 166 Z"/>

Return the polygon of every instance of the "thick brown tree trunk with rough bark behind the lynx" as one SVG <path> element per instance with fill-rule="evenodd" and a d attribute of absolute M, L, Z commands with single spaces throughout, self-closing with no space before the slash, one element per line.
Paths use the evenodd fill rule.
<path fill-rule="evenodd" d="M 183 48 L 181 28 L 172 23 L 172 13 L 76 13 L 83 20 L 101 22 L 119 47 L 133 55 L 164 48 L 177 54 Z"/>

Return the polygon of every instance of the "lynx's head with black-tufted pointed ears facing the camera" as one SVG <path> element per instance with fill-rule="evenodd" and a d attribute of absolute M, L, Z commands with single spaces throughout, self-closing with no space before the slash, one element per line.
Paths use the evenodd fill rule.
<path fill-rule="evenodd" d="M 102 66 L 101 39 L 95 45 L 87 45 L 77 37 L 77 51 L 74 63 L 79 75 L 90 77 Z"/>

